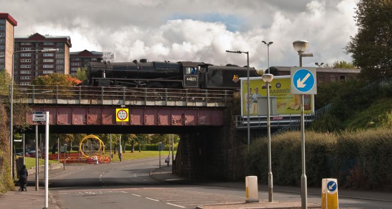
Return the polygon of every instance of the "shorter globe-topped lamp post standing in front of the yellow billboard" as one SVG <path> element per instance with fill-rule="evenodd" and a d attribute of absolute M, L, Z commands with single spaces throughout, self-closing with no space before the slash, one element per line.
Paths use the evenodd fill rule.
<path fill-rule="evenodd" d="M 270 126 L 270 83 L 273 80 L 272 74 L 263 74 L 263 81 L 267 85 L 267 130 L 268 130 L 268 202 L 273 201 L 273 181 L 271 168 L 271 126 Z"/>

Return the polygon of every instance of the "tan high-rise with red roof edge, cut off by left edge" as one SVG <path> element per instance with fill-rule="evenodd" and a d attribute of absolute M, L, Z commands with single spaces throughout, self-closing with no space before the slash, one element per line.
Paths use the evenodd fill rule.
<path fill-rule="evenodd" d="M 10 75 L 14 51 L 14 27 L 17 25 L 11 15 L 0 12 L 0 70 L 6 70 Z"/>

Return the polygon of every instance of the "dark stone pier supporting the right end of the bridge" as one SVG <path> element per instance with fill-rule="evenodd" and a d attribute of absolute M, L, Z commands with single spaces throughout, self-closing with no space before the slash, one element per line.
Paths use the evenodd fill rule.
<path fill-rule="evenodd" d="M 224 111 L 223 126 L 180 136 L 175 158 L 176 174 L 186 178 L 226 180 L 244 176 L 244 134 L 235 131 L 229 110 Z"/>

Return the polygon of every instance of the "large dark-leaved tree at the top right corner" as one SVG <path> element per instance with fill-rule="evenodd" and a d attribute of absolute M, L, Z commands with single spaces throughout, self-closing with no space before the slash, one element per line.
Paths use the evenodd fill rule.
<path fill-rule="evenodd" d="M 359 77 L 376 80 L 392 76 L 392 1 L 360 0 L 355 21 L 358 33 L 350 37 L 346 53 L 361 68 Z"/>

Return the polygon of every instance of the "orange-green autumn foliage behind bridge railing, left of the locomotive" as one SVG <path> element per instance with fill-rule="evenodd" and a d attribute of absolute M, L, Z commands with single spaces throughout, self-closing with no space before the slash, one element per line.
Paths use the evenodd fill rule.
<path fill-rule="evenodd" d="M 34 78 L 32 85 L 43 86 L 75 86 L 81 81 L 71 75 L 61 73 L 52 73 L 49 75 L 40 75 Z"/>

